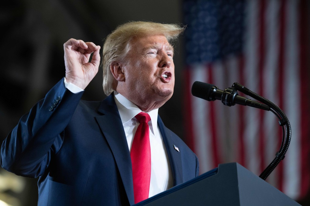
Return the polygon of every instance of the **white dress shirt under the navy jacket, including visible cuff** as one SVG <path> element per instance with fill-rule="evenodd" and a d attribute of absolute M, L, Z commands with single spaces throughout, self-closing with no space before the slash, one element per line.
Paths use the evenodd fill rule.
<path fill-rule="evenodd" d="M 64 78 L 64 84 L 66 88 L 73 93 L 83 91 L 78 86 L 72 83 L 67 83 L 66 78 Z M 131 151 L 132 141 L 139 126 L 139 122 L 136 120 L 135 116 L 139 114 L 141 110 L 134 103 L 126 99 L 123 95 L 118 94 L 116 91 L 114 91 L 114 100 L 121 116 L 128 149 Z M 148 197 L 152 197 L 172 187 L 173 181 L 168 154 L 162 139 L 162 134 L 157 125 L 158 109 L 147 113 L 151 117 L 151 121 L 148 122 L 151 145 L 151 182 Z"/>

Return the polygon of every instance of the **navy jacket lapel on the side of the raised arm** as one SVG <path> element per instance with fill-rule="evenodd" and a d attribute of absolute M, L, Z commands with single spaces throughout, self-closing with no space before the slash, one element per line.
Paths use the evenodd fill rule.
<path fill-rule="evenodd" d="M 133 205 L 135 201 L 133 193 L 131 158 L 126 141 L 126 135 L 113 95 L 109 95 L 102 101 L 98 111 L 103 115 L 97 116 L 96 120 L 112 150 L 129 203 L 130 205 Z"/>

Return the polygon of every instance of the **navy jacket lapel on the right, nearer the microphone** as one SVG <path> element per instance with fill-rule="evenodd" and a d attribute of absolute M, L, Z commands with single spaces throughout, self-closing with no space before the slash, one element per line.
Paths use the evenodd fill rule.
<path fill-rule="evenodd" d="M 182 173 L 182 159 L 181 159 L 181 152 L 177 151 L 174 148 L 174 145 L 176 145 L 175 142 L 173 142 L 172 135 L 174 135 L 172 132 L 166 129 L 164 123 L 162 122 L 162 119 L 159 117 L 157 118 L 157 124 L 159 127 L 159 130 L 162 134 L 162 138 L 164 140 L 166 150 L 168 153 L 168 158 L 171 166 L 171 171 L 173 175 L 173 186 L 183 183 L 183 173 Z"/>

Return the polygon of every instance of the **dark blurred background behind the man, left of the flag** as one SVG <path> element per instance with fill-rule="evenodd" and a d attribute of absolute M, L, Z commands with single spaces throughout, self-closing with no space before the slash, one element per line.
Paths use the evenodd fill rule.
<path fill-rule="evenodd" d="M 102 47 L 111 31 L 131 20 L 183 23 L 182 6 L 181 0 L 2 2 L 0 141 L 7 137 L 20 117 L 64 77 L 63 44 L 69 38 L 92 41 Z M 184 139 L 184 36 L 180 36 L 175 46 L 175 92 L 159 114 L 166 126 Z M 82 99 L 102 100 L 104 97 L 100 68 Z M 14 206 L 37 205 L 37 196 L 36 179 L 22 178 L 0 168 L 0 205 L 1 200 Z"/>

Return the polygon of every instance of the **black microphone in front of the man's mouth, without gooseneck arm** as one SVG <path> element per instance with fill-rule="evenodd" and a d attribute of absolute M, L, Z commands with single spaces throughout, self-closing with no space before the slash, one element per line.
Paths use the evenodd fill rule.
<path fill-rule="evenodd" d="M 213 84 L 196 81 L 192 86 L 192 95 L 207 101 L 214 101 L 218 99 L 221 100 L 224 105 L 229 107 L 235 104 L 241 104 L 244 106 L 255 107 L 267 111 L 270 110 L 270 107 L 268 107 L 266 104 L 239 96 L 237 89 L 233 87 L 228 87 L 223 91 Z"/>

